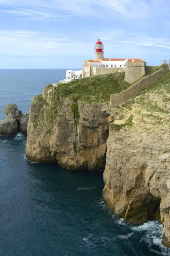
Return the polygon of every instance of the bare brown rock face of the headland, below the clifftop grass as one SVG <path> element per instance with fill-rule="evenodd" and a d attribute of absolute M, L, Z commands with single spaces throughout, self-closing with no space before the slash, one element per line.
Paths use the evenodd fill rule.
<path fill-rule="evenodd" d="M 110 119 L 102 105 L 57 97 L 57 88 L 46 87 L 31 102 L 26 156 L 65 168 L 104 170 Z"/>

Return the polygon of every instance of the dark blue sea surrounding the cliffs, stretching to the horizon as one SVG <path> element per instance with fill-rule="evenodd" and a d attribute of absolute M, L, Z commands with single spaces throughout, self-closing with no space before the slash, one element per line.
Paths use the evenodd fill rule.
<path fill-rule="evenodd" d="M 0 70 L 0 119 L 16 103 L 65 78 L 64 69 Z M 26 135 L 0 138 L 0 256 L 158 256 L 162 225 L 129 225 L 102 199 L 102 172 L 68 171 L 26 159 Z"/>

